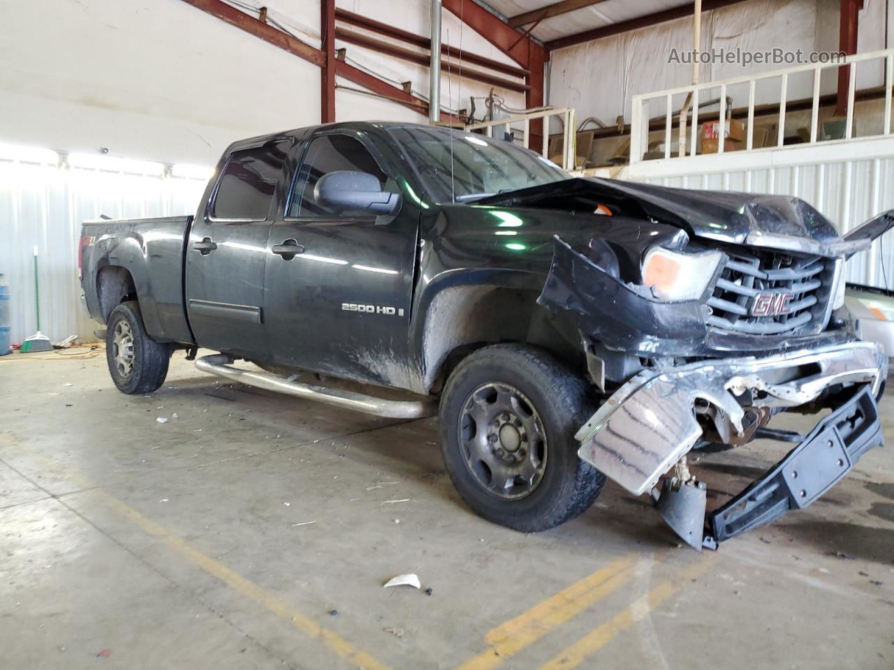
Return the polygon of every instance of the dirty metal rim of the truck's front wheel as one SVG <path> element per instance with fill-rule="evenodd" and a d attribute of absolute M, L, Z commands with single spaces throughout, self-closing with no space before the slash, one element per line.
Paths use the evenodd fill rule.
<path fill-rule="evenodd" d="M 468 470 L 488 493 L 524 498 L 543 479 L 546 431 L 519 389 L 482 384 L 463 403 L 457 429 Z"/>

